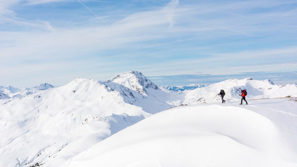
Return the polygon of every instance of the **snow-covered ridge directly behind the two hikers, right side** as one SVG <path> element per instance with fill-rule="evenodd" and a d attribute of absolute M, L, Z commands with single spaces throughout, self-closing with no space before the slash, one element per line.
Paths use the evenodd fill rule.
<path fill-rule="evenodd" d="M 241 94 L 242 89 L 247 90 L 247 100 L 287 96 L 297 97 L 297 85 L 295 84 L 275 85 L 270 80 L 259 81 L 252 78 L 228 79 L 202 88 L 170 94 L 170 97 L 177 99 L 174 102 L 175 105 L 222 102 L 221 97 L 217 95 L 221 89 L 225 90 L 224 99 L 227 103 L 240 100 L 241 96 L 239 94 Z"/>

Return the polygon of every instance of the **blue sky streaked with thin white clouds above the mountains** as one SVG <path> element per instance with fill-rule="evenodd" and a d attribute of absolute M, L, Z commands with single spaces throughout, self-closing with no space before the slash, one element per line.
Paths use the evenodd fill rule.
<path fill-rule="evenodd" d="M 0 85 L 61 86 L 131 70 L 158 85 L 293 83 L 296 16 L 291 0 L 1 0 Z"/>

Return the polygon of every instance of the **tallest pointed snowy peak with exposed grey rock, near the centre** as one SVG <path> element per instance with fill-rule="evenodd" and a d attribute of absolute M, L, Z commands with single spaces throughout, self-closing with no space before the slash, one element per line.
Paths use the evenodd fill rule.
<path fill-rule="evenodd" d="M 145 96 L 149 95 L 148 91 L 150 89 L 160 90 L 156 84 L 151 82 L 151 80 L 146 78 L 139 71 L 129 71 L 126 73 L 121 73 L 107 81 L 104 81 L 103 83 L 110 82 L 119 83 Z"/>

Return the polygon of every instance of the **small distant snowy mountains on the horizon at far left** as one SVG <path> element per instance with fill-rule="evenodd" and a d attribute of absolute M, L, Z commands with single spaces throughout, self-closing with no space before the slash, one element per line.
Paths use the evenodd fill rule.
<path fill-rule="evenodd" d="M 12 86 L 0 86 L 0 92 L 3 92 L 10 97 L 19 97 L 23 98 L 29 94 L 34 94 L 49 88 L 54 88 L 53 85 L 48 83 L 42 83 L 39 86 L 34 86 L 32 88 L 14 88 Z"/>

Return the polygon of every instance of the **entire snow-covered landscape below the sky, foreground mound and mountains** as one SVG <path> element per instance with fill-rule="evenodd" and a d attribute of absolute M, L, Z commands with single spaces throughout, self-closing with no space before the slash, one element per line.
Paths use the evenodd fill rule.
<path fill-rule="evenodd" d="M 228 144 L 230 149 L 232 149 L 232 154 L 230 153 L 229 156 L 233 156 L 233 151 L 243 151 L 247 155 L 255 152 L 255 155 L 259 156 L 251 155 L 251 158 L 271 155 L 273 158 L 268 156 L 263 157 L 263 159 L 274 160 L 271 162 L 281 165 L 296 163 L 290 155 L 296 157 L 297 102 L 296 98 L 283 98 L 287 96 L 297 97 L 296 84 L 275 85 L 269 80 L 257 81 L 246 78 L 242 80 L 230 79 L 194 90 L 164 92 L 142 73 L 131 71 L 119 74 L 103 82 L 77 78 L 64 86 L 47 89 L 49 87 L 51 86 L 46 84 L 35 87 L 35 93 L 22 96 L 23 98 L 8 97 L 0 99 L 0 166 L 29 167 L 36 163 L 49 167 L 60 165 L 76 166 L 80 164 L 80 161 L 85 161 L 88 164 L 94 162 L 95 165 L 90 164 L 90 166 L 99 166 L 97 161 L 91 159 L 92 157 L 101 159 L 100 155 L 107 156 L 106 160 L 113 158 L 111 161 L 114 162 L 110 163 L 110 166 L 118 162 L 118 159 L 120 162 L 122 160 L 120 157 L 127 157 L 128 155 L 131 155 L 131 157 L 122 160 L 123 164 L 120 166 L 124 166 L 124 164 L 131 166 L 156 166 L 158 162 L 162 166 L 166 166 L 167 160 L 177 160 L 176 157 L 178 156 L 182 159 L 177 164 L 189 161 L 189 158 L 196 160 L 197 158 L 193 156 L 198 158 L 200 156 L 199 162 L 189 161 L 189 163 L 202 164 L 204 162 L 204 166 L 211 166 L 211 162 L 216 163 L 219 160 L 224 160 L 221 157 L 217 157 L 218 160 L 214 160 L 214 158 L 218 154 L 217 152 L 224 154 L 224 149 L 228 152 L 229 147 L 228 149 L 224 147 L 225 145 L 228 146 Z M 220 89 L 225 90 L 227 103 L 214 105 L 221 102 L 221 98 L 217 95 Z M 235 105 L 239 103 L 240 96 L 238 94 L 241 89 L 247 89 L 249 106 Z M 14 89 L 11 88 L 10 90 L 13 91 Z M 17 92 L 18 90 L 14 91 Z M 262 98 L 280 99 L 251 100 Z M 200 105 L 194 106 L 194 108 L 177 107 L 164 111 L 182 104 Z M 226 106 L 228 107 L 226 108 Z M 164 111 L 162 113 L 167 113 L 168 111 L 176 112 L 175 110 L 177 109 L 179 110 L 177 115 L 165 114 L 165 116 L 162 116 L 162 114 L 156 114 L 161 111 Z M 189 111 L 186 111 L 188 109 Z M 193 110 L 203 111 L 201 112 L 202 115 L 197 115 Z M 235 112 L 237 110 L 240 111 L 239 115 Z M 245 115 L 245 112 L 250 114 Z M 210 115 L 207 115 L 207 113 Z M 226 116 L 222 116 L 219 113 L 225 113 L 223 115 Z M 152 114 L 156 114 L 156 116 L 161 115 L 161 117 L 151 116 Z M 217 114 L 218 116 L 216 116 Z M 129 131 L 129 126 L 147 117 L 149 117 L 148 120 L 151 120 L 149 121 L 151 127 L 143 125 L 144 129 L 139 127 L 141 130 Z M 184 121 L 186 117 L 189 121 Z M 219 117 L 223 120 L 222 122 L 209 124 L 210 127 L 208 127 L 208 124 L 205 124 L 208 121 L 218 121 L 217 119 L 212 119 L 212 117 Z M 157 119 L 154 120 L 154 118 Z M 205 122 L 199 123 L 199 121 L 203 121 L 202 118 Z M 241 121 L 233 122 L 232 124 L 227 123 L 237 119 Z M 255 120 L 260 121 L 255 122 Z M 146 119 L 144 122 L 146 122 Z M 245 124 L 242 125 L 242 122 Z M 264 123 L 262 124 L 261 122 Z M 142 125 L 142 123 L 139 123 L 139 125 Z M 138 127 L 139 125 L 135 126 Z M 237 126 L 242 128 L 243 131 L 239 132 L 239 130 L 234 129 Z M 125 129 L 126 127 L 129 128 Z M 189 130 L 187 130 L 188 127 Z M 232 130 L 227 130 L 227 127 Z M 131 128 L 134 128 L 134 126 Z M 251 132 L 252 129 L 255 131 L 256 139 L 255 136 L 250 135 L 254 134 Z M 118 133 L 119 131 L 120 133 Z M 129 135 L 113 137 L 126 133 L 126 131 L 127 134 L 131 135 L 130 143 L 127 139 Z M 194 131 L 197 131 L 197 133 Z M 173 134 L 173 132 L 175 133 Z M 209 135 L 203 136 L 204 132 Z M 245 132 L 247 134 L 243 134 Z M 263 133 L 262 136 L 259 136 L 260 132 Z M 156 133 L 155 136 L 153 133 Z M 163 133 L 164 135 L 162 136 Z M 203 138 L 198 138 L 197 134 Z M 227 137 L 224 138 L 224 135 Z M 267 140 L 267 143 L 264 143 L 262 146 L 263 140 L 271 136 L 276 138 L 275 141 Z M 187 142 L 184 141 L 188 137 L 189 143 L 194 143 L 196 139 L 200 140 L 198 145 L 191 145 L 194 148 L 205 148 L 203 147 L 203 142 L 206 142 L 205 146 L 210 146 L 212 143 L 208 143 L 208 140 L 206 140 L 208 137 L 209 141 L 217 142 L 218 140 L 216 147 L 210 146 L 215 155 L 211 155 L 208 150 L 204 150 L 205 155 L 202 155 L 201 152 L 197 153 L 192 149 L 186 150 L 189 152 L 185 153 L 181 146 L 188 146 Z M 234 141 L 228 139 L 228 137 Z M 124 140 L 121 140 L 121 138 Z M 163 139 L 159 141 L 160 138 Z M 257 138 L 259 139 L 257 140 Z M 113 141 L 117 141 L 118 144 L 113 143 Z M 157 142 L 157 148 L 154 148 L 155 141 Z M 166 144 L 167 141 L 169 145 Z M 106 147 L 103 146 L 99 150 L 94 149 L 102 142 L 107 142 Z M 147 146 L 143 146 L 142 144 L 146 144 L 146 142 Z M 162 145 L 158 142 L 161 142 Z M 134 147 L 134 143 L 137 147 Z M 259 143 L 260 146 L 258 146 Z M 173 150 L 172 144 L 177 145 L 176 150 Z M 222 146 L 219 147 L 220 144 Z M 168 148 L 169 146 L 172 148 Z M 149 150 L 147 153 L 143 153 L 143 157 L 140 156 L 141 154 L 132 154 L 133 151 L 142 153 L 146 150 L 141 147 Z M 164 148 L 164 150 L 160 150 L 159 147 Z M 268 149 L 268 147 L 273 147 L 273 149 Z M 122 156 L 123 150 L 120 148 L 125 148 L 127 154 Z M 203 150 L 201 148 L 200 150 Z M 220 149 L 216 150 L 216 148 Z M 168 151 L 166 151 L 167 149 Z M 279 150 L 279 152 L 275 151 L 275 149 Z M 94 153 L 94 155 L 87 158 L 86 150 Z M 120 157 L 109 157 L 109 153 L 104 152 L 104 150 L 115 151 L 115 155 Z M 243 154 L 237 152 L 234 155 L 237 155 L 238 159 L 242 159 L 243 157 L 240 156 Z M 199 156 L 196 156 L 196 153 Z M 168 156 L 165 157 L 165 154 L 168 154 Z M 187 158 L 187 155 L 189 158 Z M 208 155 L 209 158 L 207 158 Z M 155 161 L 157 157 L 160 160 L 163 159 L 162 162 Z M 201 160 L 203 157 L 206 159 Z M 284 160 L 281 160 L 281 158 Z M 127 162 L 127 160 L 130 161 Z M 243 162 L 246 161 L 243 160 Z M 255 164 L 257 162 L 259 162 L 258 164 L 263 164 L 263 161 L 259 160 L 259 158 L 254 161 Z M 231 166 L 239 163 L 239 161 L 231 163 L 233 162 L 232 160 L 228 162 L 230 162 Z M 251 163 L 253 165 L 253 160 L 249 163 L 247 162 L 247 164 Z M 168 166 L 171 164 L 173 163 L 168 162 Z"/>

